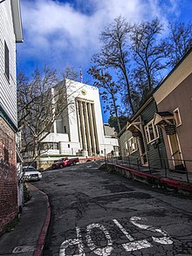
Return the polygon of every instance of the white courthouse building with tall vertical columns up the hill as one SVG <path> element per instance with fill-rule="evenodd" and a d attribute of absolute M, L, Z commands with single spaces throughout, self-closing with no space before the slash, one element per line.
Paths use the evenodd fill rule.
<path fill-rule="evenodd" d="M 61 84 L 70 102 L 43 141 L 47 155 L 105 156 L 119 152 L 115 134 L 102 121 L 99 90 L 73 80 Z"/>

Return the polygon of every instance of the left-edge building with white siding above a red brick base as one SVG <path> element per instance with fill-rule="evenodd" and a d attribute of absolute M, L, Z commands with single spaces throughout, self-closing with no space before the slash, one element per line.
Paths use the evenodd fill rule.
<path fill-rule="evenodd" d="M 0 233 L 18 213 L 16 43 L 22 41 L 19 1 L 0 2 Z"/>

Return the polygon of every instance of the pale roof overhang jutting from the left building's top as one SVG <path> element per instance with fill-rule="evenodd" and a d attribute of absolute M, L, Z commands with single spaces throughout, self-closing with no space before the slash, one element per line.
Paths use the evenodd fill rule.
<path fill-rule="evenodd" d="M 24 41 L 23 38 L 23 30 L 21 24 L 21 10 L 20 10 L 20 2 L 19 0 L 11 0 L 11 11 L 12 11 L 12 19 L 13 19 L 13 27 L 16 36 L 16 42 L 22 43 Z"/>

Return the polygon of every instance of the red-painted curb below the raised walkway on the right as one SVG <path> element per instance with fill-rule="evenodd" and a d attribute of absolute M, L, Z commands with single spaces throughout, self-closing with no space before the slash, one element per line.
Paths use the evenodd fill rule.
<path fill-rule="evenodd" d="M 134 180 L 140 181 L 142 183 L 147 183 L 156 187 L 181 190 L 192 194 L 192 183 L 185 183 L 162 176 L 154 176 L 152 174 L 144 173 L 139 170 L 133 170 L 128 167 L 113 163 L 103 163 L 99 167 L 99 169 L 106 169 L 108 171 L 115 172 L 127 178 L 132 178 Z"/>

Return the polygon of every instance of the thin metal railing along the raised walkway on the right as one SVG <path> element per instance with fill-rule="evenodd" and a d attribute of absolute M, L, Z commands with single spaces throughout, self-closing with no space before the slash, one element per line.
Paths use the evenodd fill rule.
<path fill-rule="evenodd" d="M 141 163 L 140 157 L 106 156 L 105 163 L 118 164 L 130 169 L 153 174 L 155 176 L 171 177 L 176 180 L 192 183 L 192 160 L 149 158 L 147 163 Z"/>

